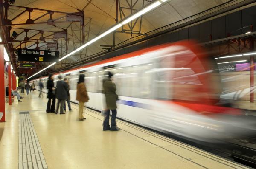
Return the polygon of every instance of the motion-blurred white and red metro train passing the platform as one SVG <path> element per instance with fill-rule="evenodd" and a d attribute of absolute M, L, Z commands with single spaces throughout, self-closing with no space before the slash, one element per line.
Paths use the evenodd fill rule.
<path fill-rule="evenodd" d="M 85 74 L 94 110 L 104 108 L 102 80 L 111 71 L 119 95 L 117 117 L 160 132 L 215 142 L 230 135 L 255 133 L 253 121 L 239 109 L 221 104 L 218 72 L 195 42 L 177 42 L 146 48 L 61 73 L 76 101 L 79 73 Z M 47 86 L 47 77 L 39 80 Z M 47 92 L 47 89 L 44 89 Z"/>

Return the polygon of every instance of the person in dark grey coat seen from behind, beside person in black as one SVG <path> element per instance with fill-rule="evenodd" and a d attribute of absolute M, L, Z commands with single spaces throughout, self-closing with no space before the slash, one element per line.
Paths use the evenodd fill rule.
<path fill-rule="evenodd" d="M 65 100 L 68 98 L 67 97 L 68 85 L 66 82 L 64 82 L 61 75 L 58 76 L 58 79 L 59 80 L 57 81 L 57 85 L 55 89 L 56 98 L 58 99 L 55 114 L 58 114 L 58 109 L 60 109 L 60 114 L 65 114 L 63 112 L 63 107 L 64 107 Z"/>

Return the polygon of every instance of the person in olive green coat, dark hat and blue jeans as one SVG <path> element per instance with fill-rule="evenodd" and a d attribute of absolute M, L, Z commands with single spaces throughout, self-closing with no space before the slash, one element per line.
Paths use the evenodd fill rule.
<path fill-rule="evenodd" d="M 111 72 L 107 73 L 108 78 L 103 79 L 103 93 L 105 94 L 106 99 L 106 109 L 104 110 L 104 121 L 103 121 L 103 131 L 111 130 L 111 131 L 118 131 L 120 130 L 116 127 L 116 101 L 118 100 L 118 96 L 116 94 L 116 84 L 112 82 L 111 77 L 113 74 Z M 111 116 L 111 126 L 109 126 L 109 115 L 110 110 L 112 112 Z"/>

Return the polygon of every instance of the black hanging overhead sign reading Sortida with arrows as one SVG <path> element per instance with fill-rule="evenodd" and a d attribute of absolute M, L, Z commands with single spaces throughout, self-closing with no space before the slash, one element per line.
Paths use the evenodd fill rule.
<path fill-rule="evenodd" d="M 58 51 L 18 49 L 18 61 L 58 62 Z"/>

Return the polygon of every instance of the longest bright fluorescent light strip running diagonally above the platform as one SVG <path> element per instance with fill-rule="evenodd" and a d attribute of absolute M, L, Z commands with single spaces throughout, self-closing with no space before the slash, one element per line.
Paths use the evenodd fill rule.
<path fill-rule="evenodd" d="M 142 10 L 138 11 L 137 13 L 132 14 L 130 17 L 128 17 L 127 19 L 125 19 L 124 21 L 122 21 L 122 23 L 118 23 L 117 25 L 113 26 L 112 28 L 108 29 L 107 31 L 105 31 L 104 33 L 100 34 L 98 37 L 93 38 L 92 40 L 90 40 L 89 42 L 85 43 L 84 45 L 80 46 L 79 48 L 77 48 L 76 50 L 70 52 L 69 54 L 63 56 L 61 59 L 59 59 L 58 61 L 60 62 L 63 59 L 66 59 L 68 56 L 71 56 L 73 54 L 75 54 L 76 52 L 80 51 L 81 49 L 85 48 L 86 46 L 92 44 L 93 42 L 96 42 L 97 40 L 101 39 L 102 37 L 105 37 L 106 35 L 110 34 L 111 32 L 115 31 L 116 29 L 122 27 L 123 25 L 125 25 L 126 23 L 131 22 L 132 20 L 136 19 L 137 17 L 140 17 L 141 15 L 145 14 L 146 12 L 156 8 L 157 6 L 161 5 L 162 3 L 166 2 L 167 0 L 157 0 L 154 3 L 151 3 L 150 5 L 146 6 L 145 8 L 143 8 Z M 55 65 L 55 63 L 53 63 L 52 65 Z M 38 73 L 44 71 L 45 69 L 51 67 L 52 65 L 47 66 L 46 68 L 44 68 L 43 70 L 39 71 Z M 37 75 L 38 73 L 35 73 L 34 75 L 30 76 L 29 78 Z M 28 78 L 28 79 L 29 79 Z"/>

